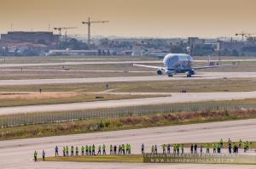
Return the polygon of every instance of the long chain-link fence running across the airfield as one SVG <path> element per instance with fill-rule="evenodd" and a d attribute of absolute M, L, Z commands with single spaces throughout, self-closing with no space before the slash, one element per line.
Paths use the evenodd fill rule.
<path fill-rule="evenodd" d="M 0 127 L 17 127 L 32 124 L 44 124 L 63 121 L 77 121 L 85 119 L 101 119 L 108 117 L 121 117 L 127 115 L 149 115 L 154 113 L 171 113 L 180 111 L 199 110 L 239 110 L 256 109 L 256 104 L 226 102 L 185 103 L 185 104 L 162 104 L 139 107 L 125 107 L 102 110 L 63 111 L 55 113 L 33 113 L 23 115 L 0 116 Z"/>

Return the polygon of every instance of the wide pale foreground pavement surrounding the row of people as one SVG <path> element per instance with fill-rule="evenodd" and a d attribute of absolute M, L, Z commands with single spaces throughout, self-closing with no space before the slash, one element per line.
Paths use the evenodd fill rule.
<path fill-rule="evenodd" d="M 0 168 L 94 168 L 94 169 L 254 169 L 255 166 L 234 166 L 234 165 L 196 165 L 196 164 L 124 164 L 124 163 L 81 163 L 81 162 L 38 162 L 32 161 L 33 151 L 38 150 L 39 155 L 44 149 L 49 156 L 54 155 L 56 145 L 81 146 L 85 144 L 131 144 L 132 153 L 139 153 L 140 145 L 146 145 L 146 152 L 149 152 L 152 144 L 166 143 L 199 143 L 215 142 L 220 138 L 231 138 L 233 141 L 242 140 L 256 141 L 256 119 L 242 121 L 223 121 L 212 123 L 201 123 L 193 125 L 154 127 L 134 129 L 115 132 L 96 132 L 76 134 L 67 136 L 54 136 L 46 138 L 27 138 L 0 142 Z M 97 146 L 96 146 L 97 147 Z M 185 149 L 185 152 L 188 149 Z M 107 149 L 108 152 L 108 149 Z"/>

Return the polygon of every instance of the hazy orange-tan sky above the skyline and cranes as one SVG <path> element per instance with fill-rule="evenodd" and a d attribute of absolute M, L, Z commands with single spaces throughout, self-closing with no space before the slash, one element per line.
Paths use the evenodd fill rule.
<path fill-rule="evenodd" d="M 78 26 L 89 16 L 92 35 L 122 37 L 231 37 L 256 33 L 256 0 L 0 0 L 0 32 Z"/>

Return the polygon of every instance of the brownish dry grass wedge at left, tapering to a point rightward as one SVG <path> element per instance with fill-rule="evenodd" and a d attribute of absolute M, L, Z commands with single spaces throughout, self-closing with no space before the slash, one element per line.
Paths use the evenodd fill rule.
<path fill-rule="evenodd" d="M 73 93 L 0 93 L 0 107 L 12 107 L 37 104 L 66 104 L 77 102 L 92 102 L 116 99 L 150 98 L 150 95 L 114 95 L 92 94 L 83 92 Z"/>

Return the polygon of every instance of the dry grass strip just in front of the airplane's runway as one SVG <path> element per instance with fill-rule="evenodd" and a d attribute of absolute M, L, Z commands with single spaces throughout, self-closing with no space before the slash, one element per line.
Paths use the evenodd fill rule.
<path fill-rule="evenodd" d="M 246 92 L 256 90 L 256 78 L 216 79 L 216 80 L 180 80 L 155 82 L 108 82 L 113 92 L 125 93 L 177 93 L 187 92 Z M 2 92 L 102 92 L 106 83 L 47 84 L 29 86 L 1 86 Z"/>

